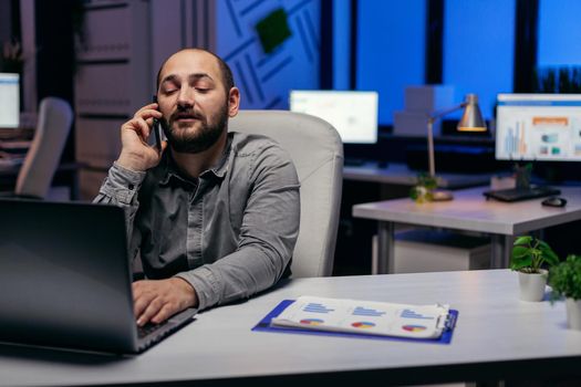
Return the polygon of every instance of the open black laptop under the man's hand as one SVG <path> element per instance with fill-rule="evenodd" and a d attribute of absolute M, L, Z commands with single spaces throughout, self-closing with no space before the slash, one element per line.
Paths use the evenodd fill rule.
<path fill-rule="evenodd" d="M 0 342 L 136 354 L 193 321 L 138 328 L 124 210 L 0 200 Z"/>

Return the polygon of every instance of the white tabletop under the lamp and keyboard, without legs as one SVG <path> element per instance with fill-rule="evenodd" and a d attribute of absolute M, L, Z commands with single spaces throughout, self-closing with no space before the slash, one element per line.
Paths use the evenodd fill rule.
<path fill-rule="evenodd" d="M 454 200 L 416 203 L 395 199 L 353 207 L 357 218 L 443 227 L 457 230 L 516 236 L 581 219 L 581 187 L 558 187 L 568 203 L 563 208 L 544 207 L 544 199 L 501 202 L 486 200 L 483 191 L 471 188 L 454 191 Z"/>

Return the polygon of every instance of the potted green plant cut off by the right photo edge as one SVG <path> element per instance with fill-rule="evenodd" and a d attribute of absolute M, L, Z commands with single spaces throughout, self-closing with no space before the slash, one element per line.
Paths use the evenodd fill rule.
<path fill-rule="evenodd" d="M 566 299 L 567 325 L 581 331 L 581 255 L 571 254 L 549 272 L 551 302 Z"/>

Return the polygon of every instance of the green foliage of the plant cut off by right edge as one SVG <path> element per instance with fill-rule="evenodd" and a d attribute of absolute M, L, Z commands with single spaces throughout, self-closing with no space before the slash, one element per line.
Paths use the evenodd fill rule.
<path fill-rule="evenodd" d="M 567 260 L 549 271 L 551 300 L 561 296 L 581 300 L 581 255 L 570 254 Z"/>

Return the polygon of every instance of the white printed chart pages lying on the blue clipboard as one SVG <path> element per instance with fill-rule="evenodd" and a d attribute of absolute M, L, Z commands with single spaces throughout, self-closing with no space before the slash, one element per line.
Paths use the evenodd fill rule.
<path fill-rule="evenodd" d="M 447 328 L 449 305 L 300 296 L 271 325 L 383 336 L 436 338 Z"/>

